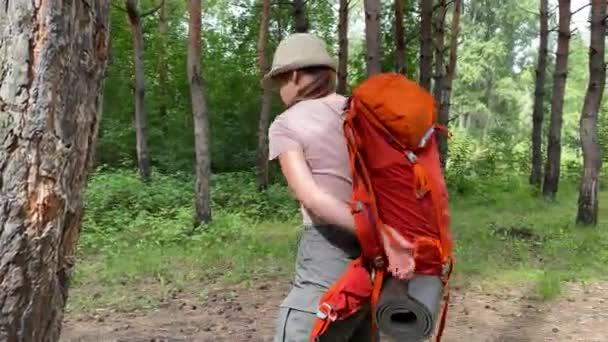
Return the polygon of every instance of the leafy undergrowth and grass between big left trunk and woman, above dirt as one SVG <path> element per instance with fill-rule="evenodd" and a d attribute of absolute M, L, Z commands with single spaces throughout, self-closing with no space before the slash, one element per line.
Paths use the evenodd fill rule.
<path fill-rule="evenodd" d="M 194 229 L 189 176 L 155 173 L 144 184 L 135 171 L 98 170 L 86 193 L 70 305 L 147 307 L 193 282 L 287 272 L 299 216 L 286 188 L 259 193 L 244 172 L 212 183 L 214 220 Z M 133 286 L 154 295 L 133 295 Z"/>

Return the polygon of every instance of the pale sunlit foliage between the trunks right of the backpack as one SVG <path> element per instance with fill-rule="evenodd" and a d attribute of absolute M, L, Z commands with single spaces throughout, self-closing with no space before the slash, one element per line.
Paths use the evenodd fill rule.
<path fill-rule="evenodd" d="M 504 160 L 495 158 L 497 146 L 512 146 L 517 153 L 529 153 L 529 149 L 524 150 L 522 142 L 530 140 L 532 127 L 537 51 L 536 46 L 530 46 L 529 42 L 538 36 L 537 6 L 534 1 L 503 1 L 498 5 L 475 1 L 465 6 L 452 115 L 466 119 L 456 121 L 458 128 L 475 140 L 478 151 L 489 153 L 486 159 Z M 555 44 L 550 45 L 550 51 L 554 51 Z M 577 180 L 582 161 L 578 122 L 588 78 L 588 49 L 580 34 L 573 35 L 570 51 L 563 113 L 562 163 L 565 178 Z M 549 124 L 554 69 L 551 53 L 549 62 L 545 81 L 545 127 Z M 546 132 L 543 137 L 546 140 Z M 458 149 L 457 146 L 455 148 Z M 500 153 L 504 157 L 503 152 Z M 523 161 L 519 157 L 515 159 Z M 489 163 L 490 166 L 493 164 Z M 510 173 L 523 171 L 515 166 L 529 168 L 525 163 L 507 163 L 503 167 L 511 168 Z M 490 167 L 487 173 L 494 171 Z"/>

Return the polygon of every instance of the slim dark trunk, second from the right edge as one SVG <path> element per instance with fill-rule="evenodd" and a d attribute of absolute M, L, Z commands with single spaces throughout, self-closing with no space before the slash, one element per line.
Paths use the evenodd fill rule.
<path fill-rule="evenodd" d="M 564 93 L 568 78 L 568 53 L 570 48 L 570 0 L 559 0 L 559 36 L 557 58 L 553 75 L 553 94 L 551 99 L 551 122 L 547 148 L 547 164 L 543 195 L 553 200 L 557 194 L 561 161 L 561 131 L 564 107 Z"/>

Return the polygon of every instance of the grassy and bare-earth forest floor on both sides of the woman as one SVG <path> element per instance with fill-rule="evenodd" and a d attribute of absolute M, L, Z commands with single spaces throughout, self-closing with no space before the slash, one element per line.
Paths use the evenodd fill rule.
<path fill-rule="evenodd" d="M 110 186 L 100 179 L 100 189 Z M 554 203 L 517 184 L 487 189 L 453 196 L 457 263 L 444 340 L 608 341 L 608 206 L 597 228 L 581 228 L 574 186 L 562 186 Z M 129 203 L 162 199 L 141 191 Z M 218 210 L 204 232 L 184 238 L 190 209 L 133 218 L 131 207 L 115 208 L 127 198 L 117 193 L 89 202 L 62 341 L 271 341 L 297 220 Z"/>

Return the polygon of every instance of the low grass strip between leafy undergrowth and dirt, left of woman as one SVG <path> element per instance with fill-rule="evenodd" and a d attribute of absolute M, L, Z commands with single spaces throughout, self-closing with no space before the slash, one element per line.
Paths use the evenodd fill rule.
<path fill-rule="evenodd" d="M 217 216 L 204 232 L 179 244 L 142 242 L 108 254 L 86 255 L 81 250 L 70 308 L 145 308 L 176 291 L 202 295 L 205 285 L 213 282 L 234 284 L 290 274 L 295 225 L 252 224 L 234 214 Z"/>

